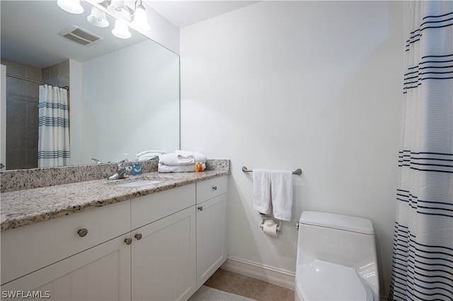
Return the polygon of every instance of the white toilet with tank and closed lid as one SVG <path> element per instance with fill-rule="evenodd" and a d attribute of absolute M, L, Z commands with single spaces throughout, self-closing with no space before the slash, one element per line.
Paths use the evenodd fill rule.
<path fill-rule="evenodd" d="M 335 213 L 302 212 L 294 298 L 379 301 L 371 220 Z"/>

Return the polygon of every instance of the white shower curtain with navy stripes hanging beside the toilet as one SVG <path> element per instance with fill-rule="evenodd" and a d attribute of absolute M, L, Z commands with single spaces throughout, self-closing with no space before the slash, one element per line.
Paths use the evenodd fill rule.
<path fill-rule="evenodd" d="M 453 1 L 408 8 L 389 300 L 453 300 Z"/>

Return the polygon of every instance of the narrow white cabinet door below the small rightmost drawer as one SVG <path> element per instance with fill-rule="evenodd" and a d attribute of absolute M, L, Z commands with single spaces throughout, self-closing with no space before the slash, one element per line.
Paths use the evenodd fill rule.
<path fill-rule="evenodd" d="M 197 205 L 197 289 L 226 261 L 226 194 Z"/>

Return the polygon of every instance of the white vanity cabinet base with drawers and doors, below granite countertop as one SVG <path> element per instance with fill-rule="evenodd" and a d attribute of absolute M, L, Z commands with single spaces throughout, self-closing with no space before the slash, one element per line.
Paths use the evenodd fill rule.
<path fill-rule="evenodd" d="M 2 232 L 1 297 L 187 300 L 226 260 L 226 184 L 209 179 Z"/>

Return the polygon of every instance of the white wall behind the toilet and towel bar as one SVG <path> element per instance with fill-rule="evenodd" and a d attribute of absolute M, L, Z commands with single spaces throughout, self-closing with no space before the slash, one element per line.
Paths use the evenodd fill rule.
<path fill-rule="evenodd" d="M 229 255 L 294 273 L 302 210 L 370 218 L 389 286 L 401 2 L 260 1 L 180 30 L 181 147 L 231 159 Z M 294 210 L 260 231 L 251 174 L 295 170 Z"/>

